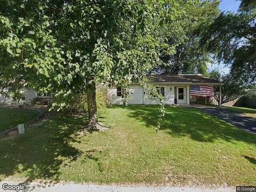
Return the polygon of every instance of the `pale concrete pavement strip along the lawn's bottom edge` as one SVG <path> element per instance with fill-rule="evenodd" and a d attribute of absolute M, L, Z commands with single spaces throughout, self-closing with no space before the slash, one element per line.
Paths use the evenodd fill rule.
<path fill-rule="evenodd" d="M 0 191 L 3 190 L 4 182 L 0 182 Z M 18 185 L 19 183 L 10 183 L 9 185 Z M 26 189 L 23 191 L 33 191 L 33 192 L 235 192 L 235 188 L 187 188 L 187 187 L 122 187 L 113 185 L 89 185 L 89 184 L 47 184 L 47 183 L 37 183 L 30 182 L 24 184 Z M 15 190 L 12 190 L 12 192 Z"/>

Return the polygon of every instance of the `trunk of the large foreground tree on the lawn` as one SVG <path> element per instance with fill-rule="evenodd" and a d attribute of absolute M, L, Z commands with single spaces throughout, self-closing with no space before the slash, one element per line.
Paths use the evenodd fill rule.
<path fill-rule="evenodd" d="M 98 124 L 97 104 L 96 104 L 96 86 L 95 83 L 86 84 L 88 125 L 89 130 L 96 128 Z"/>

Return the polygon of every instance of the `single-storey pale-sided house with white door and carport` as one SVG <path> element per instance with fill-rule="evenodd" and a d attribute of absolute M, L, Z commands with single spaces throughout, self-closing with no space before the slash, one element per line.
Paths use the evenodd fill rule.
<path fill-rule="evenodd" d="M 167 105 L 189 105 L 190 102 L 195 102 L 196 97 L 190 97 L 190 86 L 193 85 L 219 86 L 221 91 L 221 82 L 201 74 L 154 75 L 150 76 L 149 79 L 150 83 L 157 87 L 158 93 L 163 95 L 164 102 Z M 129 104 L 151 105 L 159 103 L 157 99 L 149 98 L 139 84 L 131 85 L 129 91 L 131 95 Z M 108 95 L 111 103 L 122 103 L 122 89 L 120 87 L 111 87 Z"/>

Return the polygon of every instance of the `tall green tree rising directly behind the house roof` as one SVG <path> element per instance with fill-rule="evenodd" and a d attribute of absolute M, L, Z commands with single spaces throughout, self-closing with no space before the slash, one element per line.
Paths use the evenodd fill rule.
<path fill-rule="evenodd" d="M 184 1 L 185 2 L 185 1 Z M 164 26 L 161 34 L 166 43 L 173 46 L 173 52 L 162 51 L 163 65 L 153 70 L 155 73 L 207 73 L 207 65 L 212 63 L 211 52 L 202 47 L 199 40 L 202 29 L 211 25 L 218 17 L 219 1 L 190 1 L 189 6 L 182 6 L 179 17 Z"/>

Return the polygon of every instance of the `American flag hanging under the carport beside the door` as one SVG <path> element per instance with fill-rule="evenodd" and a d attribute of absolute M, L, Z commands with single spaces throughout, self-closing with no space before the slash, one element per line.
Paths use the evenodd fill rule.
<path fill-rule="evenodd" d="M 190 95 L 199 97 L 211 97 L 214 95 L 213 86 L 211 85 L 192 85 L 190 86 Z"/>

